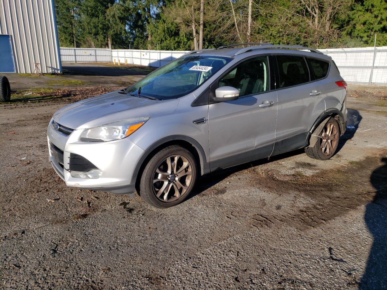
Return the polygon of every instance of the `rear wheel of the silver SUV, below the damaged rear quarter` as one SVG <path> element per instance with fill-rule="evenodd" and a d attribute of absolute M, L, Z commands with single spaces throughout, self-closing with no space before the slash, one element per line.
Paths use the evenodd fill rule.
<path fill-rule="evenodd" d="M 329 130 L 329 128 L 331 128 Z M 332 157 L 337 150 L 340 139 L 340 127 L 335 118 L 330 118 L 322 128 L 321 132 L 313 132 L 313 135 L 319 135 L 316 144 L 313 147 L 305 148 L 305 153 L 314 159 L 327 160 Z M 330 139 L 330 140 L 329 140 Z"/>

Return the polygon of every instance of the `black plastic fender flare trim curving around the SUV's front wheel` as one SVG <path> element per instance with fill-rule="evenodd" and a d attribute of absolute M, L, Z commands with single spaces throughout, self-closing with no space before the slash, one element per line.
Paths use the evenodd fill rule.
<path fill-rule="evenodd" d="M 199 155 L 199 159 L 200 159 L 199 165 L 200 165 L 201 174 L 204 175 L 204 174 L 207 174 L 210 172 L 209 162 L 207 162 L 207 157 L 205 155 L 204 149 L 203 149 L 202 145 L 200 145 L 199 142 L 197 142 L 195 139 L 188 137 L 188 136 L 185 136 L 185 135 L 171 135 L 171 136 L 164 137 L 164 138 L 154 142 L 151 146 L 149 146 L 144 151 L 144 153 L 141 155 L 140 159 L 137 161 L 136 166 L 134 167 L 131 183 L 136 183 L 139 171 L 140 171 L 142 165 L 144 164 L 144 161 L 147 159 L 147 157 L 149 157 L 149 154 L 151 154 L 152 151 L 155 150 L 157 147 L 159 147 L 165 143 L 171 142 L 171 141 L 185 141 L 185 142 L 190 143 L 192 145 L 192 147 L 195 148 L 195 150 L 197 151 L 197 153 Z"/>

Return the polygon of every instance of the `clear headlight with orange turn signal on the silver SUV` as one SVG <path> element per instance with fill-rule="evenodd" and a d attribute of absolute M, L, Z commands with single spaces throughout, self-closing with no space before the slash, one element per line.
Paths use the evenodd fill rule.
<path fill-rule="evenodd" d="M 81 141 L 106 142 L 123 139 L 149 120 L 149 117 L 133 118 L 106 123 L 83 131 L 80 135 Z"/>

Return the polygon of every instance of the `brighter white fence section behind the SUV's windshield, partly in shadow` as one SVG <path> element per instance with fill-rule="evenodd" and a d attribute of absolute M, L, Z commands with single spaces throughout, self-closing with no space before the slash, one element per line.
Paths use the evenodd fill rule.
<path fill-rule="evenodd" d="M 161 67 L 171 60 L 175 60 L 188 51 L 172 50 L 138 50 L 138 49 L 112 49 L 113 61 L 133 65 L 146 65 L 149 67 Z"/>

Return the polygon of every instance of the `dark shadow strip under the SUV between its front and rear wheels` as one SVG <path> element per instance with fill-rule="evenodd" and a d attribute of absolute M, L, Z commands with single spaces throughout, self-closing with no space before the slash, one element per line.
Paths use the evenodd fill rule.
<path fill-rule="evenodd" d="M 244 163 L 241 165 L 229 167 L 226 169 L 221 169 L 221 170 L 212 172 L 210 174 L 206 174 L 204 176 L 200 176 L 198 178 L 198 180 L 196 181 L 196 185 L 195 185 L 194 189 L 192 190 L 192 193 L 188 196 L 187 200 L 189 200 L 190 198 L 193 198 L 197 194 L 201 194 L 203 191 L 205 191 L 205 190 L 211 188 L 212 186 L 214 186 L 215 184 L 223 181 L 224 179 L 226 179 L 230 175 L 234 174 L 235 172 L 243 171 L 243 170 L 251 168 L 251 167 L 255 167 L 258 165 L 262 165 L 262 164 L 267 164 L 267 163 L 270 163 L 272 161 L 276 161 L 276 160 L 280 160 L 280 159 L 284 159 L 284 158 L 292 157 L 292 156 L 296 156 L 296 155 L 301 155 L 301 154 L 305 154 L 304 149 L 298 149 L 298 150 L 286 152 L 283 154 L 274 155 L 274 156 L 270 157 L 270 160 L 268 160 L 267 158 L 259 159 L 259 160 Z M 218 189 L 214 189 L 214 191 L 215 191 L 215 194 L 219 194 L 219 193 L 221 193 L 222 189 L 220 189 L 220 192 L 218 192 L 219 191 Z"/>

